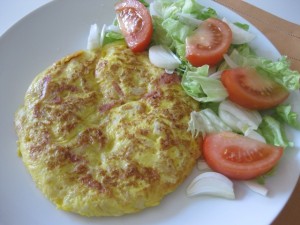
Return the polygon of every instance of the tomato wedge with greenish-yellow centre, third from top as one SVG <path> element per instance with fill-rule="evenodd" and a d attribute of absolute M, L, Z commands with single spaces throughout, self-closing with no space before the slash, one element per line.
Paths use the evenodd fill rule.
<path fill-rule="evenodd" d="M 228 98 L 249 109 L 269 109 L 289 96 L 282 85 L 251 68 L 225 70 L 221 81 L 227 89 Z"/>

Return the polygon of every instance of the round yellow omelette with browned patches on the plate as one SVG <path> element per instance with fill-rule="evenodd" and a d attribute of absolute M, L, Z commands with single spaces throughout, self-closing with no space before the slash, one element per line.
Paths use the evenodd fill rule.
<path fill-rule="evenodd" d="M 68 55 L 36 76 L 15 115 L 18 151 L 57 208 L 120 216 L 158 205 L 190 174 L 198 103 L 180 77 L 124 42 Z"/>

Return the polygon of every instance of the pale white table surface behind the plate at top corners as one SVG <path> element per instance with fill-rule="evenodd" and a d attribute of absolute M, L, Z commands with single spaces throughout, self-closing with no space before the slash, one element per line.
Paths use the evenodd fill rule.
<path fill-rule="evenodd" d="M 50 0 L 0 0 L 0 36 L 18 20 L 48 2 Z M 88 3 L 88 0 L 86 2 Z M 300 25 L 300 1 L 246 0 L 246 2 Z"/>

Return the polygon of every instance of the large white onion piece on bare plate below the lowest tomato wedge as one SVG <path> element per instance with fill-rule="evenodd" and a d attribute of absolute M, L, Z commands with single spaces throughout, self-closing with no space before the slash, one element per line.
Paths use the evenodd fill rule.
<path fill-rule="evenodd" d="M 198 175 L 187 187 L 188 197 L 210 195 L 234 199 L 233 183 L 224 175 L 217 172 L 205 172 Z"/>

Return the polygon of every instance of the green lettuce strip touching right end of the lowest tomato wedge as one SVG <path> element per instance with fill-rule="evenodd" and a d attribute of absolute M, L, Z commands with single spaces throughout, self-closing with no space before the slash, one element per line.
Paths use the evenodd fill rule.
<path fill-rule="evenodd" d="M 294 146 L 294 143 L 287 139 L 283 125 L 272 116 L 266 115 L 263 117 L 258 131 L 268 144 L 284 148 Z"/>

